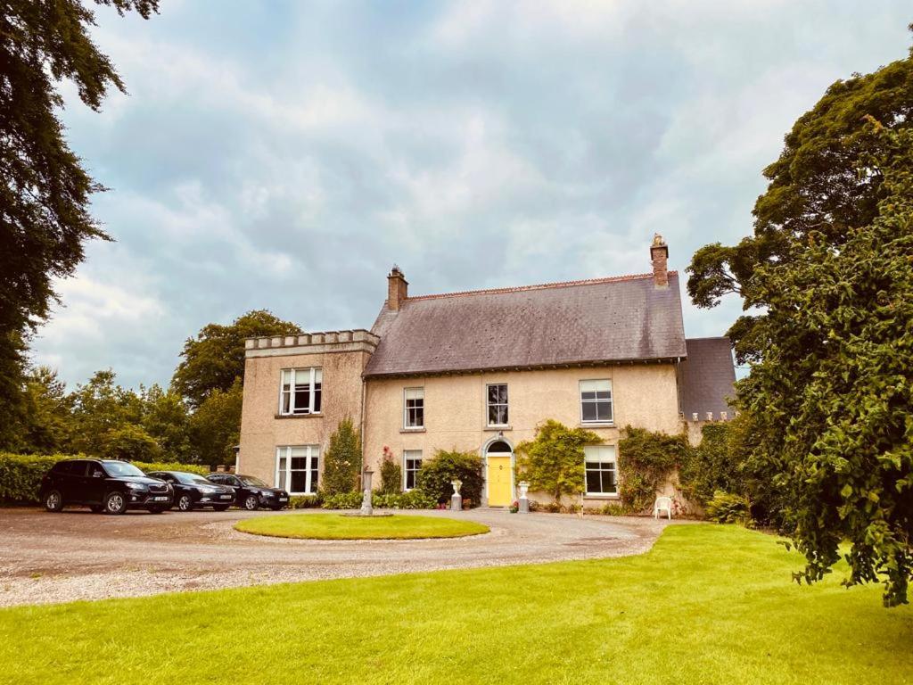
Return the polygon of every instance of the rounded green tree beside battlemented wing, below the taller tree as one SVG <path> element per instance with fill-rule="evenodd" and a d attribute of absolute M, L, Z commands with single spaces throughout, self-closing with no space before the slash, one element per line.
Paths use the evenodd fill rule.
<path fill-rule="evenodd" d="M 241 434 L 241 380 L 227 390 L 216 388 L 190 417 L 190 443 L 196 460 L 210 466 L 235 463 Z"/>

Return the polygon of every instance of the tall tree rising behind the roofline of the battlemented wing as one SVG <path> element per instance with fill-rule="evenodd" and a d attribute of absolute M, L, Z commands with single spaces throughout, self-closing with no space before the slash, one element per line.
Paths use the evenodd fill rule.
<path fill-rule="evenodd" d="M 299 332 L 297 325 L 266 310 L 248 311 L 227 326 L 209 323 L 184 342 L 172 385 L 195 409 L 215 390 L 227 392 L 236 379 L 244 379 L 246 338 Z"/>

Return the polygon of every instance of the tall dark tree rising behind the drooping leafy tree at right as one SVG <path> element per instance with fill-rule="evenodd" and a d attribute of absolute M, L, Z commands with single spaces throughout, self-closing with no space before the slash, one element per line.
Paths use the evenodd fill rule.
<path fill-rule="evenodd" d="M 758 270 L 789 263 L 807 238 L 839 248 L 878 215 L 884 175 L 873 165 L 880 142 L 866 132 L 866 117 L 889 130 L 913 126 L 913 57 L 866 76 L 839 80 L 785 137 L 780 158 L 763 174 L 767 192 L 754 205 L 754 234 L 736 246 L 698 249 L 688 267 L 688 294 L 714 307 L 736 294 L 746 311 L 766 307 Z M 798 248 L 796 246 L 799 246 Z M 748 314 L 729 329 L 740 364 L 760 358 L 763 314 Z"/>

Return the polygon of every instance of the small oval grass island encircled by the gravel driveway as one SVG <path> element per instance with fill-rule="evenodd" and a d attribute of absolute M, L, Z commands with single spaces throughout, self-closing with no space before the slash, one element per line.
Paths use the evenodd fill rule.
<path fill-rule="evenodd" d="M 237 522 L 235 528 L 255 535 L 309 540 L 415 540 L 459 538 L 488 532 L 488 526 L 436 516 L 343 516 L 292 514 L 258 516 Z"/>

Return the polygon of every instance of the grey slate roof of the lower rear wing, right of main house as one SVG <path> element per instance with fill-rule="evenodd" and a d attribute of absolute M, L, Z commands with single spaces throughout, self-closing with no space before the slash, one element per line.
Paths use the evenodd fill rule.
<path fill-rule="evenodd" d="M 688 338 L 687 360 L 678 364 L 678 387 L 681 409 L 687 420 L 697 413 L 698 419 L 719 419 L 720 412 L 733 416 L 726 398 L 735 395 L 736 370 L 732 363 L 729 338 Z"/>

